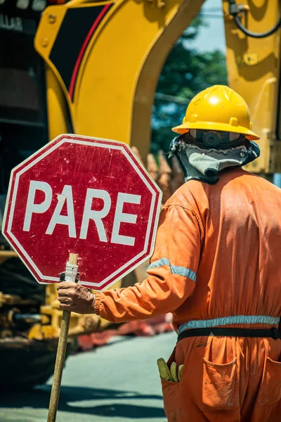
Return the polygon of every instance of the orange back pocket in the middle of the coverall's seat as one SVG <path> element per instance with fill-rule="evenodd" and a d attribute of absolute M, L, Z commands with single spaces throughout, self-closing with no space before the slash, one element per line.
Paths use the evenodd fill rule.
<path fill-rule="evenodd" d="M 236 358 L 229 364 L 214 364 L 203 359 L 202 402 L 204 412 L 235 411 L 239 408 Z"/>

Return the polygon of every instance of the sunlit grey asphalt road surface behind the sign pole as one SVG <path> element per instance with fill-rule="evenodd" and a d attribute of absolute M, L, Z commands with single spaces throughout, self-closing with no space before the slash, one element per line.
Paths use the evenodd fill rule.
<path fill-rule="evenodd" d="M 168 359 L 175 343 L 174 333 L 115 338 L 69 357 L 56 422 L 166 422 L 156 360 Z M 46 422 L 51 382 L 1 395 L 0 421 Z"/>

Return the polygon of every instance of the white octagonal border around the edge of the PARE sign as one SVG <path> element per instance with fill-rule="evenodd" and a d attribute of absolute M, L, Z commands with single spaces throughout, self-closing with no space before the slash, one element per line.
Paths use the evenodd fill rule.
<path fill-rule="evenodd" d="M 63 135 L 58 136 L 58 138 L 60 138 Z M 66 135 L 68 136 L 68 135 Z M 118 275 L 120 272 L 123 271 L 123 269 L 126 269 L 126 267 L 128 267 L 129 265 L 131 265 L 134 261 L 137 261 L 142 255 L 146 254 L 148 252 L 148 241 L 150 238 L 150 234 L 151 234 L 151 226 L 152 226 L 152 217 L 153 217 L 153 213 L 155 210 L 155 200 L 156 200 L 156 192 L 155 189 L 152 188 L 152 186 L 150 186 L 150 183 L 148 182 L 148 180 L 145 178 L 145 176 L 143 175 L 143 173 L 141 172 L 141 170 L 138 169 L 138 167 L 136 167 L 136 164 L 133 162 L 133 160 L 131 159 L 129 153 L 126 151 L 126 144 L 120 145 L 120 143 L 118 141 L 112 141 L 110 139 L 100 139 L 100 138 L 91 138 L 89 136 L 83 136 L 83 138 L 88 138 L 88 139 L 93 139 L 95 141 L 108 141 L 111 144 L 105 144 L 105 143 L 98 143 L 98 142 L 92 142 L 92 141 L 82 141 L 82 140 L 77 140 L 77 139 L 71 139 L 71 136 L 75 136 L 75 135 L 70 135 L 68 138 L 63 138 L 61 139 L 61 141 L 59 141 L 58 143 L 55 143 L 55 145 L 51 148 L 48 148 L 48 150 L 43 153 L 42 155 L 39 155 L 34 161 L 31 161 L 29 165 L 27 165 L 27 167 L 22 168 L 22 170 L 20 170 L 20 172 L 18 172 L 18 174 L 16 174 L 15 176 L 15 184 L 13 187 L 13 195 L 12 195 L 12 200 L 11 200 L 11 208 L 10 208 L 10 214 L 8 217 L 8 227 L 7 227 L 7 233 L 9 236 L 11 236 L 11 238 L 13 239 L 15 245 L 17 245 L 18 249 L 20 250 L 20 252 L 22 253 L 22 255 L 25 257 L 25 260 L 27 260 L 27 262 L 29 262 L 30 266 L 37 271 L 38 276 L 41 277 L 41 279 L 44 280 L 48 280 L 48 281 L 59 281 L 58 277 L 51 277 L 51 276 L 44 276 L 44 274 L 41 273 L 41 271 L 39 270 L 39 268 L 34 264 L 34 261 L 30 258 L 30 256 L 27 254 L 27 252 L 25 251 L 24 248 L 22 248 L 22 245 L 20 244 L 20 242 L 18 242 L 17 238 L 15 238 L 15 236 L 13 235 L 12 231 L 11 231 L 11 226 L 12 226 L 12 222 L 13 222 L 13 213 L 15 210 L 15 200 L 16 200 L 16 196 L 18 193 L 18 183 L 19 183 L 19 179 L 20 176 L 25 173 L 27 170 L 29 170 L 31 167 L 33 167 L 33 165 L 37 164 L 37 162 L 41 161 L 43 158 L 45 158 L 47 155 L 49 155 L 50 153 L 52 153 L 53 151 L 55 151 L 56 148 L 58 148 L 59 146 L 63 145 L 63 143 L 67 142 L 67 143 L 77 143 L 79 145 L 87 145 L 87 146 L 97 146 L 100 148 L 107 148 L 107 149 L 117 149 L 119 151 L 122 151 L 122 153 L 125 155 L 126 159 L 130 162 L 131 166 L 133 167 L 133 170 L 135 170 L 138 174 L 139 177 L 141 177 L 141 179 L 143 180 L 145 186 L 147 186 L 148 190 L 150 191 L 150 193 L 152 193 L 152 201 L 151 201 L 151 205 L 150 205 L 150 212 L 149 212 L 149 218 L 148 218 L 148 228 L 145 234 L 145 245 L 144 245 L 144 249 L 142 250 L 142 252 L 140 252 L 138 255 L 136 255 L 135 257 L 133 257 L 132 260 L 130 260 L 129 262 L 126 262 L 126 264 L 124 264 L 121 268 L 117 269 L 114 273 L 110 274 L 110 276 L 108 276 L 106 279 L 103 279 L 103 281 L 100 281 L 100 283 L 91 283 L 88 281 L 79 281 L 79 283 L 84 283 L 87 286 L 93 286 L 94 288 L 98 288 L 100 286 L 102 286 L 103 284 L 107 283 L 107 281 L 109 281 L 110 279 L 114 278 L 115 276 L 117 276 L 117 279 L 119 279 L 120 277 L 124 277 L 126 274 L 129 274 L 129 272 L 131 272 L 135 267 L 137 267 L 139 264 L 141 264 L 142 262 L 144 262 L 145 260 L 148 259 L 148 257 L 152 254 L 153 248 L 154 248 L 154 244 L 155 244 L 155 236 L 156 236 L 156 231 L 157 231 L 157 224 L 155 224 L 154 230 L 153 230 L 153 234 L 152 234 L 152 239 L 151 239 L 151 247 L 150 247 L 150 252 L 149 255 L 145 255 L 145 257 L 143 258 L 143 260 L 137 262 L 134 266 L 130 267 L 128 269 L 128 271 L 126 271 L 124 274 L 122 274 L 121 276 Z M 79 137 L 79 136 L 77 136 Z M 56 139 L 58 139 L 56 138 Z M 55 141 L 55 139 L 54 139 Z M 117 145 L 112 145 L 112 142 L 116 142 Z M 41 149 L 46 148 L 46 146 L 44 146 Z M 40 151 L 40 150 L 39 150 Z M 37 155 L 38 152 L 34 153 L 33 155 Z M 133 154 L 133 157 L 137 160 L 137 162 L 141 165 L 141 167 L 143 167 L 143 165 L 141 164 L 141 162 L 138 160 L 138 158 L 136 157 L 136 155 L 133 153 L 133 151 L 130 150 L 130 153 Z M 32 155 L 27 158 L 27 160 L 30 160 L 32 158 Z M 18 169 L 18 167 L 21 167 L 22 164 L 24 162 L 20 163 L 20 165 L 18 165 L 17 167 L 15 167 L 13 169 L 13 172 L 15 172 L 15 170 Z M 145 170 L 146 172 L 146 170 Z M 152 181 L 150 175 L 148 174 L 148 172 L 146 172 L 147 176 L 149 177 L 149 179 Z M 12 180 L 13 174 L 11 174 L 11 180 Z M 155 184 L 155 182 L 153 181 L 153 185 L 155 187 L 157 187 L 157 190 L 159 191 L 159 200 L 158 200 L 158 204 L 157 204 L 157 212 L 155 213 L 155 217 L 156 219 L 158 219 L 159 217 L 159 205 L 161 203 L 161 198 L 162 198 L 162 191 L 159 189 L 159 187 Z M 9 190 L 8 190 L 8 195 L 11 193 L 11 184 L 9 185 Z M 7 198 L 8 198 L 7 195 Z M 4 224 L 6 224 L 6 212 L 8 210 L 8 202 L 6 204 L 6 210 L 4 213 L 4 221 L 3 221 L 3 226 Z M 8 239 L 7 239 L 8 240 Z M 23 261 L 24 262 L 24 261 Z M 117 279 L 114 279 L 113 281 L 110 282 L 110 284 L 106 287 L 111 286 L 113 283 L 115 283 L 115 281 Z M 37 279 L 37 281 L 39 281 Z M 41 281 L 39 281 L 39 283 L 42 283 Z M 46 283 L 42 283 L 42 284 L 46 284 Z"/>

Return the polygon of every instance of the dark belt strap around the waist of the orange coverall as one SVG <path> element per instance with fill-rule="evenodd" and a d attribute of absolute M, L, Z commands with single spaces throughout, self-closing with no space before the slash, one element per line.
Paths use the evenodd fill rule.
<path fill-rule="evenodd" d="M 215 335 L 216 337 L 271 337 L 281 338 L 278 328 L 192 328 L 178 334 L 178 341 L 186 337 L 201 337 Z"/>

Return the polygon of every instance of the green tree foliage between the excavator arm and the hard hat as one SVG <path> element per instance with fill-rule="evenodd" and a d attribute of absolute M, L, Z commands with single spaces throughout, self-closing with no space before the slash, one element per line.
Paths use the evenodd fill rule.
<path fill-rule="evenodd" d="M 174 135 L 171 127 L 180 124 L 190 99 L 214 84 L 227 84 L 226 60 L 221 51 L 200 53 L 190 49 L 189 41 L 195 39 L 205 23 L 198 15 L 183 32 L 169 53 L 159 77 L 152 115 L 151 152 L 169 150 Z M 174 102 L 169 97 L 178 98 Z M 165 99 L 164 99 L 165 98 Z"/>

